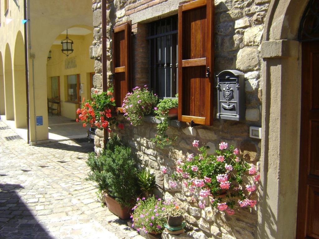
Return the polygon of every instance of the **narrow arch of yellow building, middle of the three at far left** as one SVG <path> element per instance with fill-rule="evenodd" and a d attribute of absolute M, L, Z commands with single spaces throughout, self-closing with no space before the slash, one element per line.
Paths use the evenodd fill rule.
<path fill-rule="evenodd" d="M 13 104 L 13 79 L 12 79 L 12 60 L 9 44 L 5 47 L 4 55 L 4 94 L 5 94 L 5 118 L 14 120 Z"/>

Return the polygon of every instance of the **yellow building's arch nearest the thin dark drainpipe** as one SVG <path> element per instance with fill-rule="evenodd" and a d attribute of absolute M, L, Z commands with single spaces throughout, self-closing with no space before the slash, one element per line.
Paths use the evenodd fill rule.
<path fill-rule="evenodd" d="M 26 127 L 26 66 L 24 40 L 19 31 L 16 37 L 13 58 L 14 118 L 16 128 Z"/>

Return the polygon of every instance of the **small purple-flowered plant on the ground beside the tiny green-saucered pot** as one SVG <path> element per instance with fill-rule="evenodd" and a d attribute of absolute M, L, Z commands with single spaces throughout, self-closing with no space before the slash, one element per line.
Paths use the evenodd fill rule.
<path fill-rule="evenodd" d="M 165 206 L 161 199 L 154 196 L 147 199 L 137 198 L 137 204 L 133 207 L 132 226 L 145 233 L 162 233 L 166 221 Z"/>

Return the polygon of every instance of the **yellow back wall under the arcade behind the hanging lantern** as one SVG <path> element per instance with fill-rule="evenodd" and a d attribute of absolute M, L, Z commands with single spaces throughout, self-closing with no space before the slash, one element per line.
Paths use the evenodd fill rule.
<path fill-rule="evenodd" d="M 90 74 L 94 72 L 94 60 L 89 57 L 89 47 L 92 45 L 93 33 L 85 36 L 69 35 L 73 40 L 73 53 L 69 57 L 61 52 L 62 45 L 52 45 L 51 60 L 47 63 L 47 94 L 51 98 L 51 77 L 60 77 L 61 115 L 70 119 L 76 119 L 76 110 L 79 104 L 68 102 L 67 79 L 68 75 L 80 74 L 80 84 L 84 84 L 82 98 L 90 99 L 91 83 Z M 65 38 L 65 35 L 61 39 Z"/>

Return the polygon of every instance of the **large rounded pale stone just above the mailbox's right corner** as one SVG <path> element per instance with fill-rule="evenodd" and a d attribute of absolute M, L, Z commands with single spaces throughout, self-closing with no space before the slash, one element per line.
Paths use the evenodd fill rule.
<path fill-rule="evenodd" d="M 254 48 L 240 49 L 237 54 L 236 66 L 244 72 L 259 68 L 258 51 Z"/>

